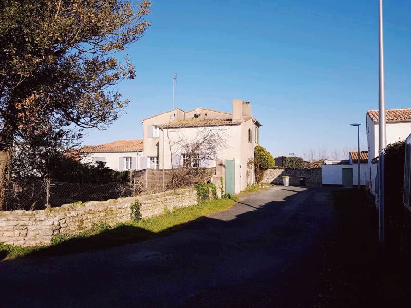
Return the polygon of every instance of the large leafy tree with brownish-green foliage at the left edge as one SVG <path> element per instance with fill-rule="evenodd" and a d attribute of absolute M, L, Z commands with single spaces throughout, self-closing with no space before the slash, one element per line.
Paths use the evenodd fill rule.
<path fill-rule="evenodd" d="M 16 142 L 73 146 L 127 105 L 114 88 L 135 77 L 119 52 L 141 38 L 150 2 L 8 0 L 0 4 L 0 181 Z M 115 56 L 116 55 L 116 56 Z M 49 145 L 47 145 L 49 146 Z"/>

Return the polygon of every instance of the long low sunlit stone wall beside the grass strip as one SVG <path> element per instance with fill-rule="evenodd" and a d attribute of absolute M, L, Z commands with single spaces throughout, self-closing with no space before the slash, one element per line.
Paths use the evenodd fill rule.
<path fill-rule="evenodd" d="M 18 246 L 48 244 L 57 234 L 73 235 L 104 222 L 114 225 L 130 219 L 130 204 L 141 202 L 143 218 L 164 213 L 165 209 L 197 204 L 192 189 L 164 191 L 137 197 L 91 201 L 84 205 L 66 204 L 45 210 L 0 211 L 0 242 Z"/>

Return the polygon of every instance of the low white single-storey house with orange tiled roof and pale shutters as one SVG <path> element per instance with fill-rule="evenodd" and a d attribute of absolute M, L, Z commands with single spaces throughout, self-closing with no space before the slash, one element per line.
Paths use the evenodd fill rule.
<path fill-rule="evenodd" d="M 106 167 L 116 171 L 140 170 L 143 141 L 117 140 L 95 146 L 85 146 L 80 150 L 83 163 L 102 161 Z"/>

